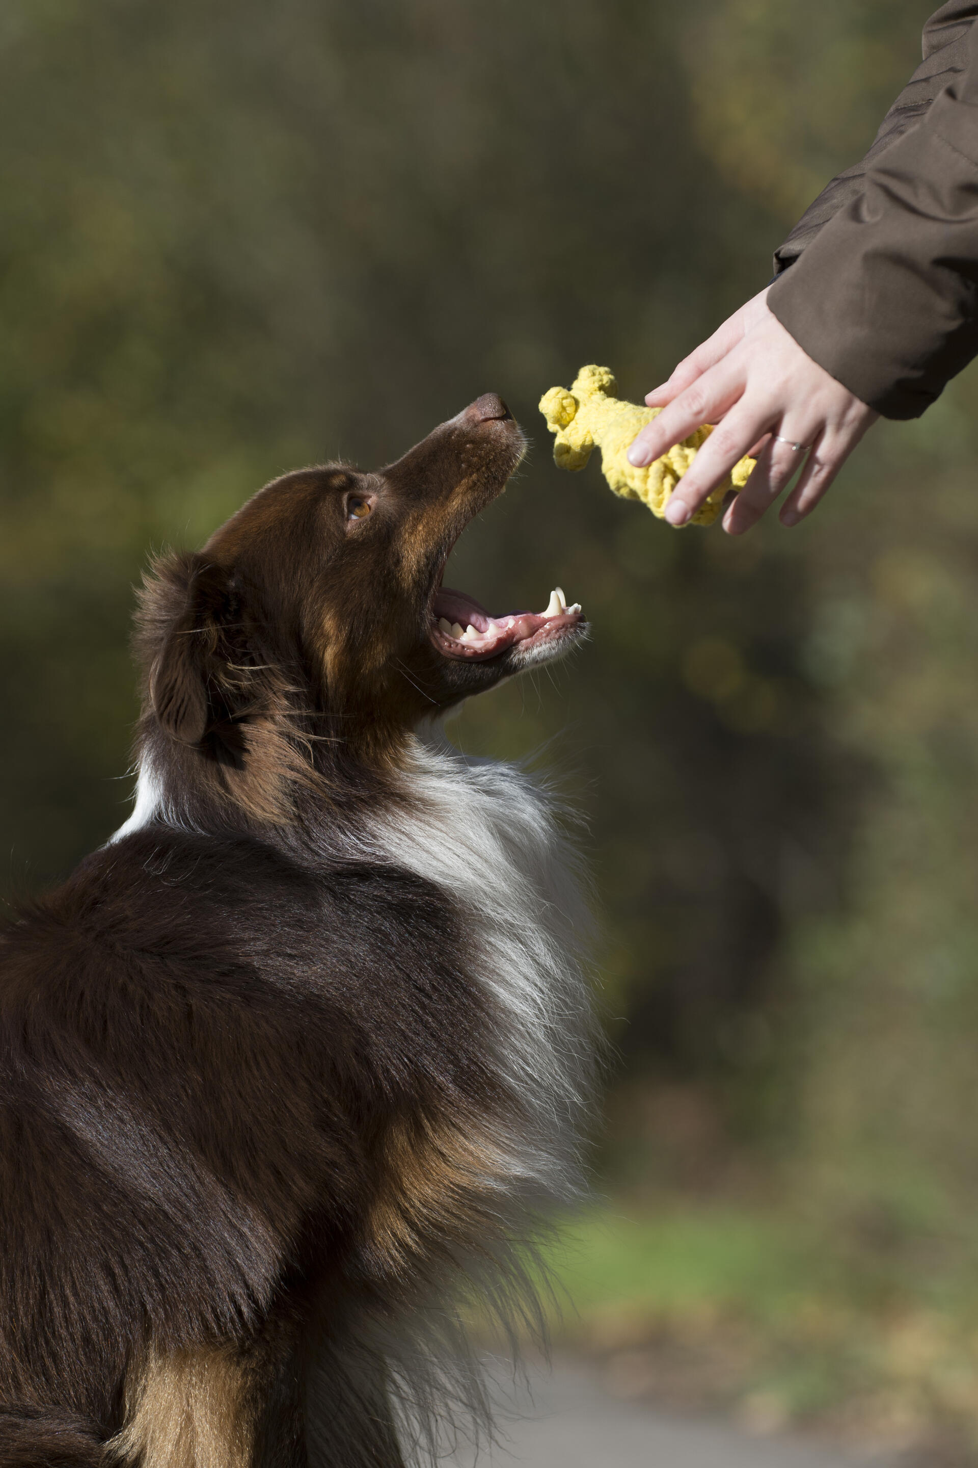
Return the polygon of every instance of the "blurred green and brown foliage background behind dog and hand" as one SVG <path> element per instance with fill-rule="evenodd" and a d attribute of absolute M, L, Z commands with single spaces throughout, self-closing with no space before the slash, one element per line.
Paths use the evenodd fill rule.
<path fill-rule="evenodd" d="M 501 392 L 532 452 L 449 581 L 594 625 L 450 725 L 591 822 L 565 1337 L 622 1396 L 974 1464 L 978 374 L 742 540 L 559 473 L 537 413 L 592 361 L 639 399 L 767 282 L 931 9 L 6 0 L 0 838 L 19 895 L 125 818 L 151 548 Z"/>

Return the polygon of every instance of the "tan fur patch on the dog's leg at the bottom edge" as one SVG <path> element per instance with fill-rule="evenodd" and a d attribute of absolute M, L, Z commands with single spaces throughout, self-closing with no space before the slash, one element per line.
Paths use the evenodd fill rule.
<path fill-rule="evenodd" d="M 246 1396 L 245 1367 L 229 1346 L 151 1352 L 135 1373 L 128 1421 L 107 1445 L 107 1461 L 248 1468 L 255 1428 Z"/>

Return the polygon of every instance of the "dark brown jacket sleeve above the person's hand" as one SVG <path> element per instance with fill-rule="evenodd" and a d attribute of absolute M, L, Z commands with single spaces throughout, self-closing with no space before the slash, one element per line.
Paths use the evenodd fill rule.
<path fill-rule="evenodd" d="M 924 63 L 872 148 L 776 255 L 777 319 L 890 418 L 918 417 L 978 354 L 975 18 L 978 0 L 931 18 Z"/>

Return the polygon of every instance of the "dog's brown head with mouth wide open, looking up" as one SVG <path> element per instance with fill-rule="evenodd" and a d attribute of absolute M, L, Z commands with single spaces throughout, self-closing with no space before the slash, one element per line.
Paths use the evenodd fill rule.
<path fill-rule="evenodd" d="M 202 552 L 161 559 L 139 621 L 144 733 L 226 771 L 286 737 L 383 765 L 425 715 L 560 656 L 585 628 L 563 593 L 491 617 L 441 584 L 523 449 L 487 393 L 387 468 L 286 474 Z"/>

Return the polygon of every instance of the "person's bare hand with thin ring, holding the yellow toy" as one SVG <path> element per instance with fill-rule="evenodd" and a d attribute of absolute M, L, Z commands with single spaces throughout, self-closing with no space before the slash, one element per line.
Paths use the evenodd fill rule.
<path fill-rule="evenodd" d="M 663 411 L 628 451 L 636 467 L 702 423 L 718 424 L 670 496 L 666 518 L 673 526 L 683 526 L 745 454 L 757 457 L 757 468 L 723 517 L 723 528 L 735 536 L 761 518 L 801 468 L 780 512 L 783 526 L 796 526 L 880 417 L 798 345 L 770 310 L 767 288 L 680 361 L 645 402 Z"/>

